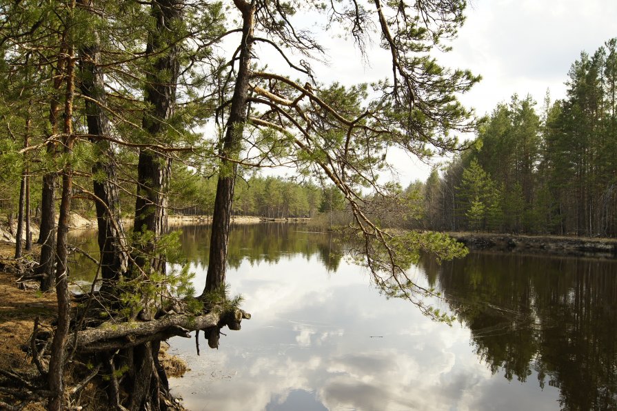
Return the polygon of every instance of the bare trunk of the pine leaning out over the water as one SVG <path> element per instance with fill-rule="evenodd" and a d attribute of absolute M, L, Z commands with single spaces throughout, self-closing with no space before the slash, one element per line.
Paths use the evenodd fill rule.
<path fill-rule="evenodd" d="M 240 62 L 234 95 L 231 101 L 230 115 L 227 119 L 227 130 L 223 140 L 221 152 L 221 170 L 219 181 L 216 184 L 214 199 L 214 214 L 212 215 L 212 237 L 210 238 L 210 260 L 206 275 L 206 293 L 219 290 L 225 283 L 225 268 L 227 263 L 227 244 L 229 243 L 230 219 L 234 200 L 234 186 L 236 182 L 236 163 L 227 159 L 234 159 L 241 150 L 241 139 L 246 121 L 246 99 L 250 80 L 251 51 L 253 46 L 253 29 L 255 6 L 243 0 L 234 0 L 237 8 L 242 12 L 242 40 Z"/>

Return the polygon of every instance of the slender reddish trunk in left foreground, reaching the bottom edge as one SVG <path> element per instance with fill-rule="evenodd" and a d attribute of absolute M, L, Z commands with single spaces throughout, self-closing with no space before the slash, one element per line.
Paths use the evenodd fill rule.
<path fill-rule="evenodd" d="M 68 10 L 67 27 L 70 27 L 75 1 Z M 48 410 L 59 411 L 64 409 L 64 365 L 65 345 L 70 324 L 70 294 L 68 291 L 68 243 L 67 233 L 72 201 L 73 170 L 71 164 L 74 135 L 72 128 L 73 97 L 74 97 L 74 66 L 72 39 L 68 39 L 66 57 L 66 94 L 64 104 L 64 152 L 68 154 L 67 163 L 62 172 L 62 197 L 60 203 L 60 217 L 58 219 L 57 267 L 56 267 L 56 297 L 58 300 L 58 320 L 52 341 L 52 354 L 49 363 L 49 388 L 52 397 L 48 403 Z"/>

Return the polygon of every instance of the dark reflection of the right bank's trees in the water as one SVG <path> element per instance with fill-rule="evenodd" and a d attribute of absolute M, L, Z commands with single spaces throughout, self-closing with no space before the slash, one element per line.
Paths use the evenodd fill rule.
<path fill-rule="evenodd" d="M 423 267 L 493 373 L 560 390 L 565 410 L 617 408 L 617 263 L 472 254 Z"/>

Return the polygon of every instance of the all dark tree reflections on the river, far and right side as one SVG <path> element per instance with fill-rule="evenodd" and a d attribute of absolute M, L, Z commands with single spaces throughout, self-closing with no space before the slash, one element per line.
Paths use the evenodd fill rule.
<path fill-rule="evenodd" d="M 210 227 L 182 230 L 183 254 L 205 270 Z M 345 247 L 335 234 L 307 231 L 305 225 L 232 225 L 230 268 L 317 255 L 336 272 Z M 96 245 L 87 235 L 73 240 L 86 250 L 87 241 Z M 73 278 L 92 272 L 90 261 L 74 258 Z M 493 374 L 527 384 L 537 375 L 541 388 L 560 390 L 564 410 L 617 408 L 617 261 L 482 253 L 441 265 L 425 256 L 420 268 L 469 328 L 476 354 Z"/>

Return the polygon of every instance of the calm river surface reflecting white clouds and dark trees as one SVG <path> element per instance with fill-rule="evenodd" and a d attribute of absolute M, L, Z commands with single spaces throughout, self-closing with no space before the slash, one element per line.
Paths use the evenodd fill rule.
<path fill-rule="evenodd" d="M 219 350 L 174 338 L 191 410 L 617 408 L 617 262 L 471 254 L 411 270 L 454 312 L 434 323 L 385 299 L 336 239 L 302 225 L 236 226 L 227 281 L 252 319 Z M 183 228 L 203 288 L 209 228 Z"/>

